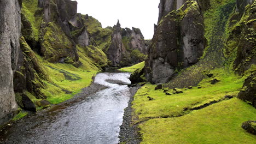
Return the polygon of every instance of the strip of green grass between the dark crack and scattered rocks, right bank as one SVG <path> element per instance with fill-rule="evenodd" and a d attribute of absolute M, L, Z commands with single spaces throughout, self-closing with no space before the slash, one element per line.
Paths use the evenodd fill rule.
<path fill-rule="evenodd" d="M 222 69 L 211 71 L 213 77 L 204 79 L 198 89 L 183 88 L 183 93 L 166 95 L 163 90 L 155 91 L 155 85 L 147 84 L 135 94 L 133 108 L 138 122 L 149 118 L 176 117 L 189 113 L 189 109 L 197 105 L 209 103 L 209 101 L 223 100 L 225 95 L 235 95 L 241 89 L 243 80 L 234 74 L 228 74 Z M 211 85 L 211 80 L 218 79 L 220 82 Z M 166 88 L 167 89 L 167 88 Z M 170 90 L 170 93 L 172 91 Z M 155 100 L 149 101 L 147 97 Z"/>

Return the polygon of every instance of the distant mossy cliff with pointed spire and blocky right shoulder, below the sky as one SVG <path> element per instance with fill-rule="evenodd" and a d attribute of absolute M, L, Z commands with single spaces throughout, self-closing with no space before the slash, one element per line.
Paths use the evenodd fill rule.
<path fill-rule="evenodd" d="M 138 28 L 121 28 L 118 21 L 113 27 L 110 45 L 107 49 L 108 59 L 114 67 L 143 62 L 148 53 L 148 46 L 145 43 L 141 30 Z"/>

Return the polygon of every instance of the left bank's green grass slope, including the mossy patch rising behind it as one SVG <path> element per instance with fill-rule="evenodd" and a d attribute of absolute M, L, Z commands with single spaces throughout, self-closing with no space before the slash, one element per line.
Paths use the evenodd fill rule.
<path fill-rule="evenodd" d="M 82 88 L 88 87 L 92 82 L 92 77 L 100 71 L 98 65 L 106 65 L 106 63 L 94 60 L 97 59 L 92 58 L 94 55 L 89 57 L 85 47 L 77 46 L 77 50 L 79 61 L 82 63 L 79 68 L 75 68 L 72 64 L 50 63 L 37 55 L 40 63 L 44 65 L 49 75 L 49 81 L 44 81 L 46 88 L 42 89 L 42 91 L 51 104 L 58 104 L 71 99 Z M 98 55 L 102 55 L 100 55 L 102 59 L 107 59 L 106 55 L 103 56 L 103 52 L 99 49 L 90 49 L 90 52 L 97 52 Z"/>

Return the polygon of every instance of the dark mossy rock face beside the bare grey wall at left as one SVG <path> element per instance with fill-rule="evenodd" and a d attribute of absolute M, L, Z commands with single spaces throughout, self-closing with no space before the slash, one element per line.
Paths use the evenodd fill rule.
<path fill-rule="evenodd" d="M 33 97 L 36 99 L 46 98 L 42 90 L 45 88 L 43 81 L 48 80 L 48 75 L 24 37 L 20 39 L 20 44 L 17 71 L 14 73 L 16 101 L 22 109 L 35 111 L 36 105 L 32 99 Z M 29 97 L 30 95 L 33 96 Z"/>

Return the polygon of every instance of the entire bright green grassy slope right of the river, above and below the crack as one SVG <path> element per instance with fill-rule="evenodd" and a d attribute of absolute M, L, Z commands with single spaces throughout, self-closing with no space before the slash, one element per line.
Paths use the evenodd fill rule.
<path fill-rule="evenodd" d="M 140 123 L 142 143 L 253 143 L 256 136 L 247 134 L 241 124 L 255 119 L 256 110 L 237 98 L 224 98 L 236 96 L 244 78 L 222 69 L 211 72 L 215 77 L 204 79 L 202 88 L 182 89 L 182 94 L 166 95 L 150 84 L 139 89 L 132 107 L 133 123 Z M 220 82 L 211 85 L 215 78 Z M 149 101 L 148 96 L 155 100 Z M 220 102 L 191 110 L 214 100 Z"/>

